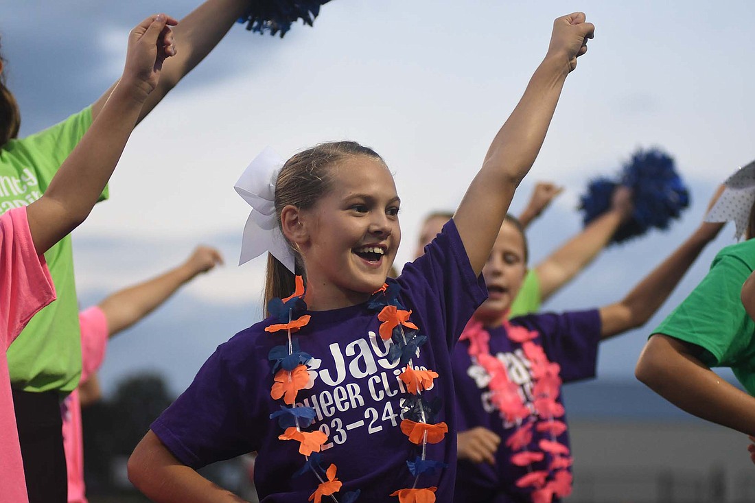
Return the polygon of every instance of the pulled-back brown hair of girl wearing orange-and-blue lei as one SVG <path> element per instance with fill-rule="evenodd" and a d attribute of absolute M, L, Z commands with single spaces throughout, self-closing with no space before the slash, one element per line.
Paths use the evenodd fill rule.
<path fill-rule="evenodd" d="M 331 170 L 336 162 L 350 156 L 368 156 L 383 158 L 369 147 L 363 147 L 356 141 L 333 141 L 320 143 L 315 147 L 295 154 L 285 162 L 276 182 L 276 216 L 281 226 L 281 211 L 288 205 L 300 210 L 312 208 L 319 198 L 331 189 Z M 304 277 L 307 284 L 307 271 L 304 261 L 296 248 L 288 243 L 296 259 L 295 270 Z M 265 312 L 270 299 L 286 297 L 294 292 L 294 275 L 278 259 L 269 255 L 267 258 L 267 279 L 265 281 Z M 268 313 L 269 314 L 269 313 Z"/>

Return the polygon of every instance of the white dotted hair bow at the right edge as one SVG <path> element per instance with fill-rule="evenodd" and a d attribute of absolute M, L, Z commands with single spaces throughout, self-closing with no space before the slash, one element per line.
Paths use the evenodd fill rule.
<path fill-rule="evenodd" d="M 740 239 L 747 232 L 750 208 L 755 202 L 755 161 L 737 168 L 724 182 L 726 189 L 705 215 L 706 222 L 728 222 L 736 224 L 735 238 Z"/>

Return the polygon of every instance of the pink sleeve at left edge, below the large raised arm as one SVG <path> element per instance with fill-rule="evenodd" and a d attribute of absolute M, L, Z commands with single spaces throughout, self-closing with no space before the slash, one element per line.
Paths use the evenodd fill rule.
<path fill-rule="evenodd" d="M 44 255 L 38 255 L 26 207 L 0 215 L 0 334 L 7 350 L 29 319 L 55 300 Z"/>

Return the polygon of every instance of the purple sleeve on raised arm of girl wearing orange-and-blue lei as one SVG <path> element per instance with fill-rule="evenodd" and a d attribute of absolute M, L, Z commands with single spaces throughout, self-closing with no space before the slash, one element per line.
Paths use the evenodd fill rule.
<path fill-rule="evenodd" d="M 424 255 L 405 265 L 399 283 L 412 308 L 421 311 L 425 323 L 434 325 L 420 328 L 442 330 L 449 347 L 488 298 L 485 280 L 482 274 L 475 276 L 453 219 L 425 247 Z"/>

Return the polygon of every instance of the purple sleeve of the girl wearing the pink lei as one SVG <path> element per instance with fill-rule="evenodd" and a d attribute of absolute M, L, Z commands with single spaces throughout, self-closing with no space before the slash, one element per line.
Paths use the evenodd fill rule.
<path fill-rule="evenodd" d="M 595 377 L 601 327 L 598 310 L 546 313 L 530 318 L 543 338 L 548 360 L 561 366 L 563 382 Z"/>

